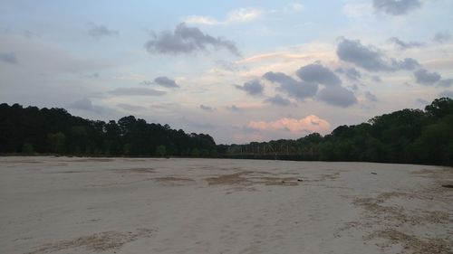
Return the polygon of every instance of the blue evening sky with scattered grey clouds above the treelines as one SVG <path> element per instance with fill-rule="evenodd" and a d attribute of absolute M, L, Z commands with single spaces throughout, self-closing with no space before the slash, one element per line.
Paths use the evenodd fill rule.
<path fill-rule="evenodd" d="M 217 144 L 453 98 L 453 0 L 0 0 L 0 103 Z"/>

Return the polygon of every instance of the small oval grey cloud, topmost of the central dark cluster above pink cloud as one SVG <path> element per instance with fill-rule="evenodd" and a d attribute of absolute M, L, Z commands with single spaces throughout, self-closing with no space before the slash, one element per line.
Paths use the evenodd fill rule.
<path fill-rule="evenodd" d="M 319 83 L 327 86 L 340 85 L 342 80 L 333 71 L 321 64 L 308 64 L 296 71 L 297 76 L 306 82 Z"/>

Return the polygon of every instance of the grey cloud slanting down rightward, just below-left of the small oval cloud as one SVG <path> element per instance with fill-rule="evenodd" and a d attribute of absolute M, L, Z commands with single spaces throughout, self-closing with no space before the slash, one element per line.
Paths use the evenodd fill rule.
<path fill-rule="evenodd" d="M 263 78 L 279 84 L 279 90 L 282 90 L 289 96 L 301 101 L 313 97 L 318 90 L 318 84 L 294 80 L 292 77 L 282 72 L 266 72 L 265 75 L 263 75 Z"/>

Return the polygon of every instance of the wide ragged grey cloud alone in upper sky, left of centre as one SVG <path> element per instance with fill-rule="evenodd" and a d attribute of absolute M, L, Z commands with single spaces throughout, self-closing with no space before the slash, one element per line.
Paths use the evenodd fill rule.
<path fill-rule="evenodd" d="M 215 50 L 225 49 L 236 56 L 240 56 L 236 44 L 220 37 L 213 37 L 202 33 L 197 27 L 188 27 L 186 24 L 178 24 L 175 31 L 164 31 L 159 35 L 154 34 L 153 39 L 145 43 L 145 49 L 149 53 L 182 54 L 197 51 L 207 52 L 210 46 Z"/>

